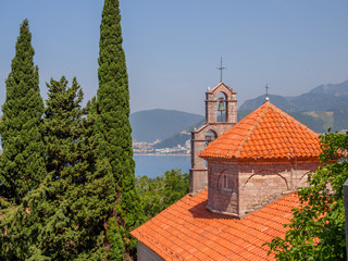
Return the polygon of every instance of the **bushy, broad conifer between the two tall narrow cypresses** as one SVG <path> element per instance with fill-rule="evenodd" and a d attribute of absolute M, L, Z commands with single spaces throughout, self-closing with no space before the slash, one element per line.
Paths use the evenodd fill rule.
<path fill-rule="evenodd" d="M 48 174 L 5 224 L 2 257 L 105 260 L 107 220 L 116 197 L 108 164 L 96 163 L 94 117 L 86 117 L 95 103 L 80 107 L 83 92 L 75 78 L 70 88 L 64 77 L 52 79 L 48 89 L 44 119 Z"/>

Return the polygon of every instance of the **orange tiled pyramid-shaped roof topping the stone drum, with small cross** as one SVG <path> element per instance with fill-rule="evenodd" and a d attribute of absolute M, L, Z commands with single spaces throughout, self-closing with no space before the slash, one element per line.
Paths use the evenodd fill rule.
<path fill-rule="evenodd" d="M 200 157 L 318 161 L 320 153 L 316 133 L 266 101 L 213 140 Z"/>

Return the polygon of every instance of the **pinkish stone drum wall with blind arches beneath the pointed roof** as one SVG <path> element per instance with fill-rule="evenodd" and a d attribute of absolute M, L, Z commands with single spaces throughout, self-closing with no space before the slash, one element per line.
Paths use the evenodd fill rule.
<path fill-rule="evenodd" d="M 307 186 L 319 162 L 209 162 L 208 208 L 244 216 Z"/>

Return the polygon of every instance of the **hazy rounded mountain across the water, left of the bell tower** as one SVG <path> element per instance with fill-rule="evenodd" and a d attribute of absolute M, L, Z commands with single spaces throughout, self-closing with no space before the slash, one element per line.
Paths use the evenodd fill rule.
<path fill-rule="evenodd" d="M 190 128 L 202 119 L 198 114 L 162 109 L 139 111 L 129 116 L 133 139 L 147 142 L 166 139 Z"/>

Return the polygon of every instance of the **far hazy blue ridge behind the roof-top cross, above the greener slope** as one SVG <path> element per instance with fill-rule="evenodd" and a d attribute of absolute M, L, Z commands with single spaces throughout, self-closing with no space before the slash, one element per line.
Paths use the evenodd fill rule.
<path fill-rule="evenodd" d="M 270 96 L 270 100 L 286 112 L 333 111 L 335 108 L 348 108 L 348 80 L 336 85 L 321 85 L 295 97 Z M 264 96 L 260 96 L 245 101 L 239 110 L 253 111 L 263 102 Z"/>

